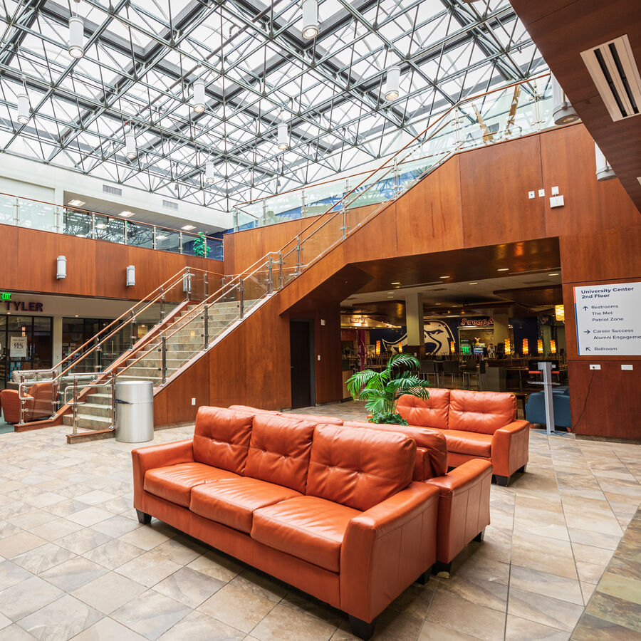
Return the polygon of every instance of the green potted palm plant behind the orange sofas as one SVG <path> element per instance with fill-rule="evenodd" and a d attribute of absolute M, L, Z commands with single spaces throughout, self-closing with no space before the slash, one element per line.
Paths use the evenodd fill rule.
<path fill-rule="evenodd" d="M 402 368 L 397 375 L 393 368 Z M 382 372 L 363 370 L 348 378 L 347 386 L 354 400 L 365 400 L 365 407 L 371 412 L 370 423 L 407 425 L 407 421 L 396 411 L 399 398 L 410 394 L 427 400 L 428 383 L 411 370 L 419 370 L 420 361 L 410 354 L 395 354 L 387 361 Z M 395 376 L 392 378 L 392 376 Z"/>

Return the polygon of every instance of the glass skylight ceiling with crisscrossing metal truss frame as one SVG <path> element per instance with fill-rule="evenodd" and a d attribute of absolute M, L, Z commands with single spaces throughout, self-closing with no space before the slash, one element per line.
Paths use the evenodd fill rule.
<path fill-rule="evenodd" d="M 80 60 L 67 51 L 70 9 L 85 24 Z M 4 0 L 1 13 L 4 152 L 228 212 L 357 172 L 457 100 L 547 69 L 507 0 L 320 0 L 314 41 L 301 36 L 300 0 Z M 390 103 L 394 64 L 401 93 Z M 197 78 L 202 114 L 190 104 Z"/>

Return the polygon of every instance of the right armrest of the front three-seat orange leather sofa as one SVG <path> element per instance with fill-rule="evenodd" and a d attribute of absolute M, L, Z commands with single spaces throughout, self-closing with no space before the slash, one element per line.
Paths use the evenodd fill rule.
<path fill-rule="evenodd" d="M 410 483 L 350 521 L 340 548 L 340 609 L 370 622 L 436 559 L 438 489 Z"/>

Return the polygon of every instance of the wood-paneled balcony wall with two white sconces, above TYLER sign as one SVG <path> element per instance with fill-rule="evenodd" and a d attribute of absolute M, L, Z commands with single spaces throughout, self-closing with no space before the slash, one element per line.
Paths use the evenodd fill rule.
<path fill-rule="evenodd" d="M 223 273 L 222 261 L 10 225 L 0 225 L 0 246 L 0 286 L 15 291 L 140 300 L 184 266 Z M 67 277 L 60 280 L 57 256 L 67 259 Z M 136 267 L 132 287 L 125 286 L 127 265 Z"/>

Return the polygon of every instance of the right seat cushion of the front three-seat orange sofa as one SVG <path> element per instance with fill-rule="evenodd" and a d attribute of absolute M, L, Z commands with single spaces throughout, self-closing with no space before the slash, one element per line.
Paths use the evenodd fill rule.
<path fill-rule="evenodd" d="M 251 538 L 338 572 L 345 530 L 358 514 L 358 510 L 333 501 L 301 496 L 254 511 Z"/>

